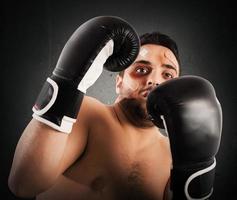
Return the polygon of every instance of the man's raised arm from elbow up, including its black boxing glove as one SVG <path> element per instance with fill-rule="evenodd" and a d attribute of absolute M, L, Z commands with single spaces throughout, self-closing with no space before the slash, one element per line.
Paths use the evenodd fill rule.
<path fill-rule="evenodd" d="M 95 17 L 73 33 L 36 100 L 34 119 L 17 145 L 9 176 L 13 193 L 33 197 L 47 190 L 80 156 L 93 114 L 93 103 L 84 98 L 86 90 L 103 66 L 123 70 L 138 51 L 135 30 L 117 17 Z"/>

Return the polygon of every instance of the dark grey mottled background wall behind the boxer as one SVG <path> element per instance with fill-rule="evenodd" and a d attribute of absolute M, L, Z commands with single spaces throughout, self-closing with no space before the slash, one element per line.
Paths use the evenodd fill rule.
<path fill-rule="evenodd" d="M 174 3 L 175 2 L 175 3 Z M 212 82 L 223 107 L 224 124 L 214 194 L 236 199 L 236 9 L 228 1 L 5 1 L 1 6 L 1 199 L 17 199 L 7 187 L 14 150 L 32 105 L 73 31 L 98 15 L 127 20 L 139 34 L 161 31 L 176 40 L 183 74 Z M 105 71 L 88 95 L 115 100 L 115 73 Z"/>

